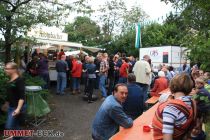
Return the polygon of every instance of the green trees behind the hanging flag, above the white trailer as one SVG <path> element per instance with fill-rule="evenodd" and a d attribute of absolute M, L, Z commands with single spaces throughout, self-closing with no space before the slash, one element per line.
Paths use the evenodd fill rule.
<path fill-rule="evenodd" d="M 180 32 L 176 24 L 165 23 L 163 25 L 152 23 L 141 29 L 141 47 L 180 45 Z M 128 55 L 138 56 L 138 49 L 135 49 L 136 31 L 134 28 L 115 37 L 112 49 L 113 52 L 126 52 Z"/>

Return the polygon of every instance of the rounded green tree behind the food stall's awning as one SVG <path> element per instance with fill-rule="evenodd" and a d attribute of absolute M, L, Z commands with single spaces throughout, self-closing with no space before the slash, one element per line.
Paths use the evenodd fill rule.
<path fill-rule="evenodd" d="M 64 31 L 68 33 L 69 41 L 87 46 L 96 46 L 103 38 L 100 27 L 89 17 L 76 17 L 73 23 L 65 26 Z"/>

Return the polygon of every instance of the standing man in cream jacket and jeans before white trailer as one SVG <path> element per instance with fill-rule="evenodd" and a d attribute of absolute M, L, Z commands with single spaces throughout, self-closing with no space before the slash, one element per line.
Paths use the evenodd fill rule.
<path fill-rule="evenodd" d="M 144 95 L 144 102 L 147 100 L 147 92 L 150 84 L 151 67 L 148 63 L 149 55 L 144 55 L 143 60 L 139 60 L 133 67 L 134 75 L 136 76 L 136 82 L 142 88 Z"/>

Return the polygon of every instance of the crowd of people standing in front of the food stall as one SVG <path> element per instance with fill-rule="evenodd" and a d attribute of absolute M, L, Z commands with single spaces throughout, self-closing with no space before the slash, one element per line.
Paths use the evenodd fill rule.
<path fill-rule="evenodd" d="M 127 58 L 125 54 L 108 56 L 107 53 L 98 53 L 93 56 L 71 55 L 65 56 L 63 50 L 58 53 L 56 61 L 57 95 L 65 95 L 65 89 L 70 88 L 70 93 L 81 93 L 80 84 L 84 84 L 84 94 L 88 96 L 88 102 L 92 103 L 94 89 L 100 89 L 102 100 L 112 94 L 114 85 L 127 83 L 127 77 L 132 72 L 135 64 L 133 56 Z M 25 70 L 25 71 L 24 71 Z M 49 87 L 49 69 L 47 57 L 36 51 L 32 54 L 32 60 L 22 70 L 31 76 L 40 76 L 45 85 Z M 107 89 L 108 84 L 108 90 Z"/>

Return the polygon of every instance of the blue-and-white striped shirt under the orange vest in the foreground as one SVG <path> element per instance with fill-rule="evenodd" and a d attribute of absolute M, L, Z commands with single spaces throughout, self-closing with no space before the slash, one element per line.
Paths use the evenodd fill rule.
<path fill-rule="evenodd" d="M 189 96 L 182 96 L 177 98 L 182 100 L 190 108 L 192 107 Z M 187 116 L 173 105 L 167 105 L 163 110 L 163 130 L 164 134 L 173 134 L 174 126 L 181 127 L 187 121 Z"/>

